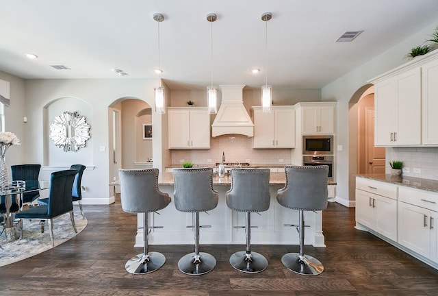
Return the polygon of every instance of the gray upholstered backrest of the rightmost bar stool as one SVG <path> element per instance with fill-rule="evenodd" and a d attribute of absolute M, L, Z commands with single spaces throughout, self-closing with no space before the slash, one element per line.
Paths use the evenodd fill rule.
<path fill-rule="evenodd" d="M 328 166 L 285 166 L 286 184 L 277 193 L 281 206 L 295 210 L 327 208 Z"/>

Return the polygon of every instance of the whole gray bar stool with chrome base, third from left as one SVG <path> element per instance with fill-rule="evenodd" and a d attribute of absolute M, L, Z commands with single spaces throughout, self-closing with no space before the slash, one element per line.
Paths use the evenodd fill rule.
<path fill-rule="evenodd" d="M 231 169 L 231 188 L 227 191 L 227 206 L 237 212 L 246 212 L 246 251 L 237 251 L 230 257 L 230 264 L 238 271 L 258 273 L 268 267 L 268 260 L 251 252 L 251 212 L 269 209 L 270 169 Z"/>

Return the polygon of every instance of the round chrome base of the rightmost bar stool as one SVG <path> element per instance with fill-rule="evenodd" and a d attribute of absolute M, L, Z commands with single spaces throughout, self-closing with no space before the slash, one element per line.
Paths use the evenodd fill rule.
<path fill-rule="evenodd" d="M 299 253 L 287 253 L 281 257 L 281 262 L 289 271 L 300 275 L 319 275 L 324 271 L 320 260 L 309 255 L 300 256 Z"/>

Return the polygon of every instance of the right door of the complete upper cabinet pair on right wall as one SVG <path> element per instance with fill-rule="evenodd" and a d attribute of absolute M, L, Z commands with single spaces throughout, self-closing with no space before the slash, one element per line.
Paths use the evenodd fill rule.
<path fill-rule="evenodd" d="M 394 143 L 395 145 L 420 145 L 422 143 L 420 68 L 398 75 L 396 82 L 398 127 L 397 130 L 394 130 L 397 133 Z M 435 84 L 437 84 L 437 81 L 435 81 Z"/>

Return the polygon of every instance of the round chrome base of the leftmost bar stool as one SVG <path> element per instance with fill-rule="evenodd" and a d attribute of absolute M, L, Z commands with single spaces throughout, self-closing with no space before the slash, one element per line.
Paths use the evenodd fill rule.
<path fill-rule="evenodd" d="M 149 252 L 147 255 L 138 254 L 129 259 L 125 264 L 127 272 L 132 274 L 144 274 L 156 271 L 164 265 L 166 257 L 158 252 Z"/>

